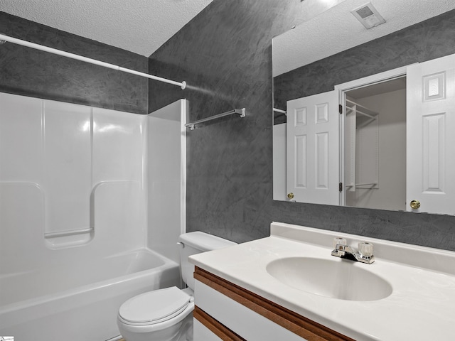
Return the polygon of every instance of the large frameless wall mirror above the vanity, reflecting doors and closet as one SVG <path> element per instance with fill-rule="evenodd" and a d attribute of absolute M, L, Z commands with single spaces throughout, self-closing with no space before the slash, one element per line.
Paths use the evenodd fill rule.
<path fill-rule="evenodd" d="M 273 39 L 274 200 L 454 215 L 455 3 L 336 3 Z"/>

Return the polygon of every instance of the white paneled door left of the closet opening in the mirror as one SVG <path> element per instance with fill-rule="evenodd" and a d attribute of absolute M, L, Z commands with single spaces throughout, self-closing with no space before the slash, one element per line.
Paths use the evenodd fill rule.
<path fill-rule="evenodd" d="M 287 193 L 297 202 L 339 204 L 338 92 L 287 102 Z"/>

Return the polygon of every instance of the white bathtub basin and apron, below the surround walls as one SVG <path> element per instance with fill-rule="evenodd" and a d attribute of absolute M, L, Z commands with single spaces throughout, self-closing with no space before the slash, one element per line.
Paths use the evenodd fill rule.
<path fill-rule="evenodd" d="M 128 298 L 179 286 L 179 265 L 149 249 L 0 276 L 0 335 L 20 341 L 115 340 Z"/>

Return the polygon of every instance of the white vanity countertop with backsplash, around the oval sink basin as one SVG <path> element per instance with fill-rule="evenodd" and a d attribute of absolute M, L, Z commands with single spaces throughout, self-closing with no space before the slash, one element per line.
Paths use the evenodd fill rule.
<path fill-rule="evenodd" d="M 382 277 L 392 294 L 344 301 L 301 291 L 266 271 L 286 257 L 337 259 L 333 237 L 375 245 L 375 263 L 353 262 Z M 271 236 L 196 254 L 191 263 L 355 340 L 455 340 L 455 252 L 272 223 Z M 341 261 L 341 259 L 340 259 Z"/>

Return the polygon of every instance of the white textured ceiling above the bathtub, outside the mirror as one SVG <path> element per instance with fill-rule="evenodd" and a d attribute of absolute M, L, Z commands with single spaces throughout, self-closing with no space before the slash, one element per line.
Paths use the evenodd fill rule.
<path fill-rule="evenodd" d="M 149 57 L 212 1 L 0 0 L 0 11 Z"/>

